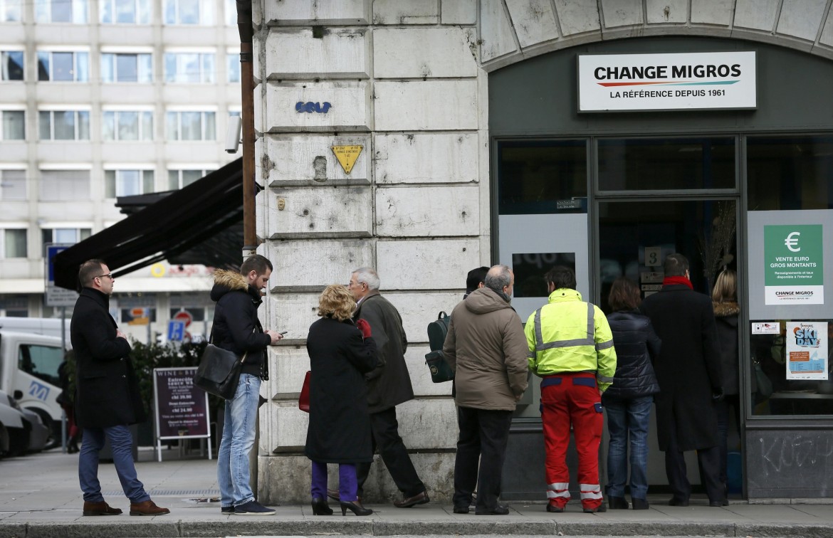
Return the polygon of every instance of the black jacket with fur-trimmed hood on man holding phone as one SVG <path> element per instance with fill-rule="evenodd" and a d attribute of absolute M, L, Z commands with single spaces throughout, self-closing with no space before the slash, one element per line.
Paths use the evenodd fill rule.
<path fill-rule="evenodd" d="M 247 353 L 242 372 L 269 379 L 266 348 L 272 338 L 264 334 L 257 307 L 263 302 L 260 291 L 249 286 L 246 277 L 235 271 L 214 271 L 211 300 L 217 302 L 212 325 L 212 343 L 237 355 Z"/>

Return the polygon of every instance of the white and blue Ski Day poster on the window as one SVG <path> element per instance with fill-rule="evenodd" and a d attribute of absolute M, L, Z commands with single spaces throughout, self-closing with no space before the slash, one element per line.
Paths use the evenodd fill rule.
<path fill-rule="evenodd" d="M 786 324 L 786 378 L 827 380 L 827 321 Z"/>

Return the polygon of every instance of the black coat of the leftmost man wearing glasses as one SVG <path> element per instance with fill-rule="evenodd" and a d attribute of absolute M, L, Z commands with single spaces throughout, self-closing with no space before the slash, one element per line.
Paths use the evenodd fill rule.
<path fill-rule="evenodd" d="M 83 288 L 69 324 L 76 361 L 75 421 L 83 428 L 128 426 L 147 419 L 130 343 L 116 336 L 109 301 L 101 291 Z"/>

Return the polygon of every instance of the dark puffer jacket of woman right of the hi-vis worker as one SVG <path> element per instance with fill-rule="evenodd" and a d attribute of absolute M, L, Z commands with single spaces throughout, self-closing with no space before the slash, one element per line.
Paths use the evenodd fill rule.
<path fill-rule="evenodd" d="M 601 400 L 626 400 L 660 391 L 653 362 L 660 356 L 661 341 L 651 320 L 639 311 L 617 311 L 607 316 L 616 348 L 616 375 Z"/>

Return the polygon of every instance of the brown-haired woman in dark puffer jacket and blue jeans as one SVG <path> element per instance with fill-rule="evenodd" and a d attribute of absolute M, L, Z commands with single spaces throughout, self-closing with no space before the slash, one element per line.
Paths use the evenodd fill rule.
<path fill-rule="evenodd" d="M 607 501 L 611 509 L 628 508 L 625 500 L 628 437 L 631 446 L 631 500 L 634 510 L 647 510 L 648 425 L 654 396 L 660 391 L 653 361 L 660 355 L 660 339 L 651 320 L 636 307 L 640 291 L 624 276 L 613 282 L 607 299 L 613 312 L 607 322 L 616 348 L 613 385 L 601 396 L 607 411 Z"/>

